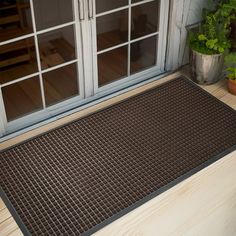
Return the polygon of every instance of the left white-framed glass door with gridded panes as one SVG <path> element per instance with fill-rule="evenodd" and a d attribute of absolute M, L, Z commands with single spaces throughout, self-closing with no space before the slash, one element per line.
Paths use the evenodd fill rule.
<path fill-rule="evenodd" d="M 0 1 L 0 114 L 8 132 L 78 104 L 83 65 L 77 0 Z"/>

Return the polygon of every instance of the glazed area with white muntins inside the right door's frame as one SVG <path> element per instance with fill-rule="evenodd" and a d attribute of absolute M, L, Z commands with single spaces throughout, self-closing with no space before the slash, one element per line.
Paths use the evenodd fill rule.
<path fill-rule="evenodd" d="M 101 2 L 104 9 L 96 7 L 95 24 L 98 88 L 158 66 L 161 4 L 129 0 L 114 8 L 113 1 Z"/>

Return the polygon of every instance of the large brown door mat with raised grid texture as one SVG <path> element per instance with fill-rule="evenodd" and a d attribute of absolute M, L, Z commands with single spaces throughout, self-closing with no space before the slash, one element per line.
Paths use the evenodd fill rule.
<path fill-rule="evenodd" d="M 90 235 L 236 149 L 236 112 L 185 78 L 0 153 L 24 234 Z"/>

